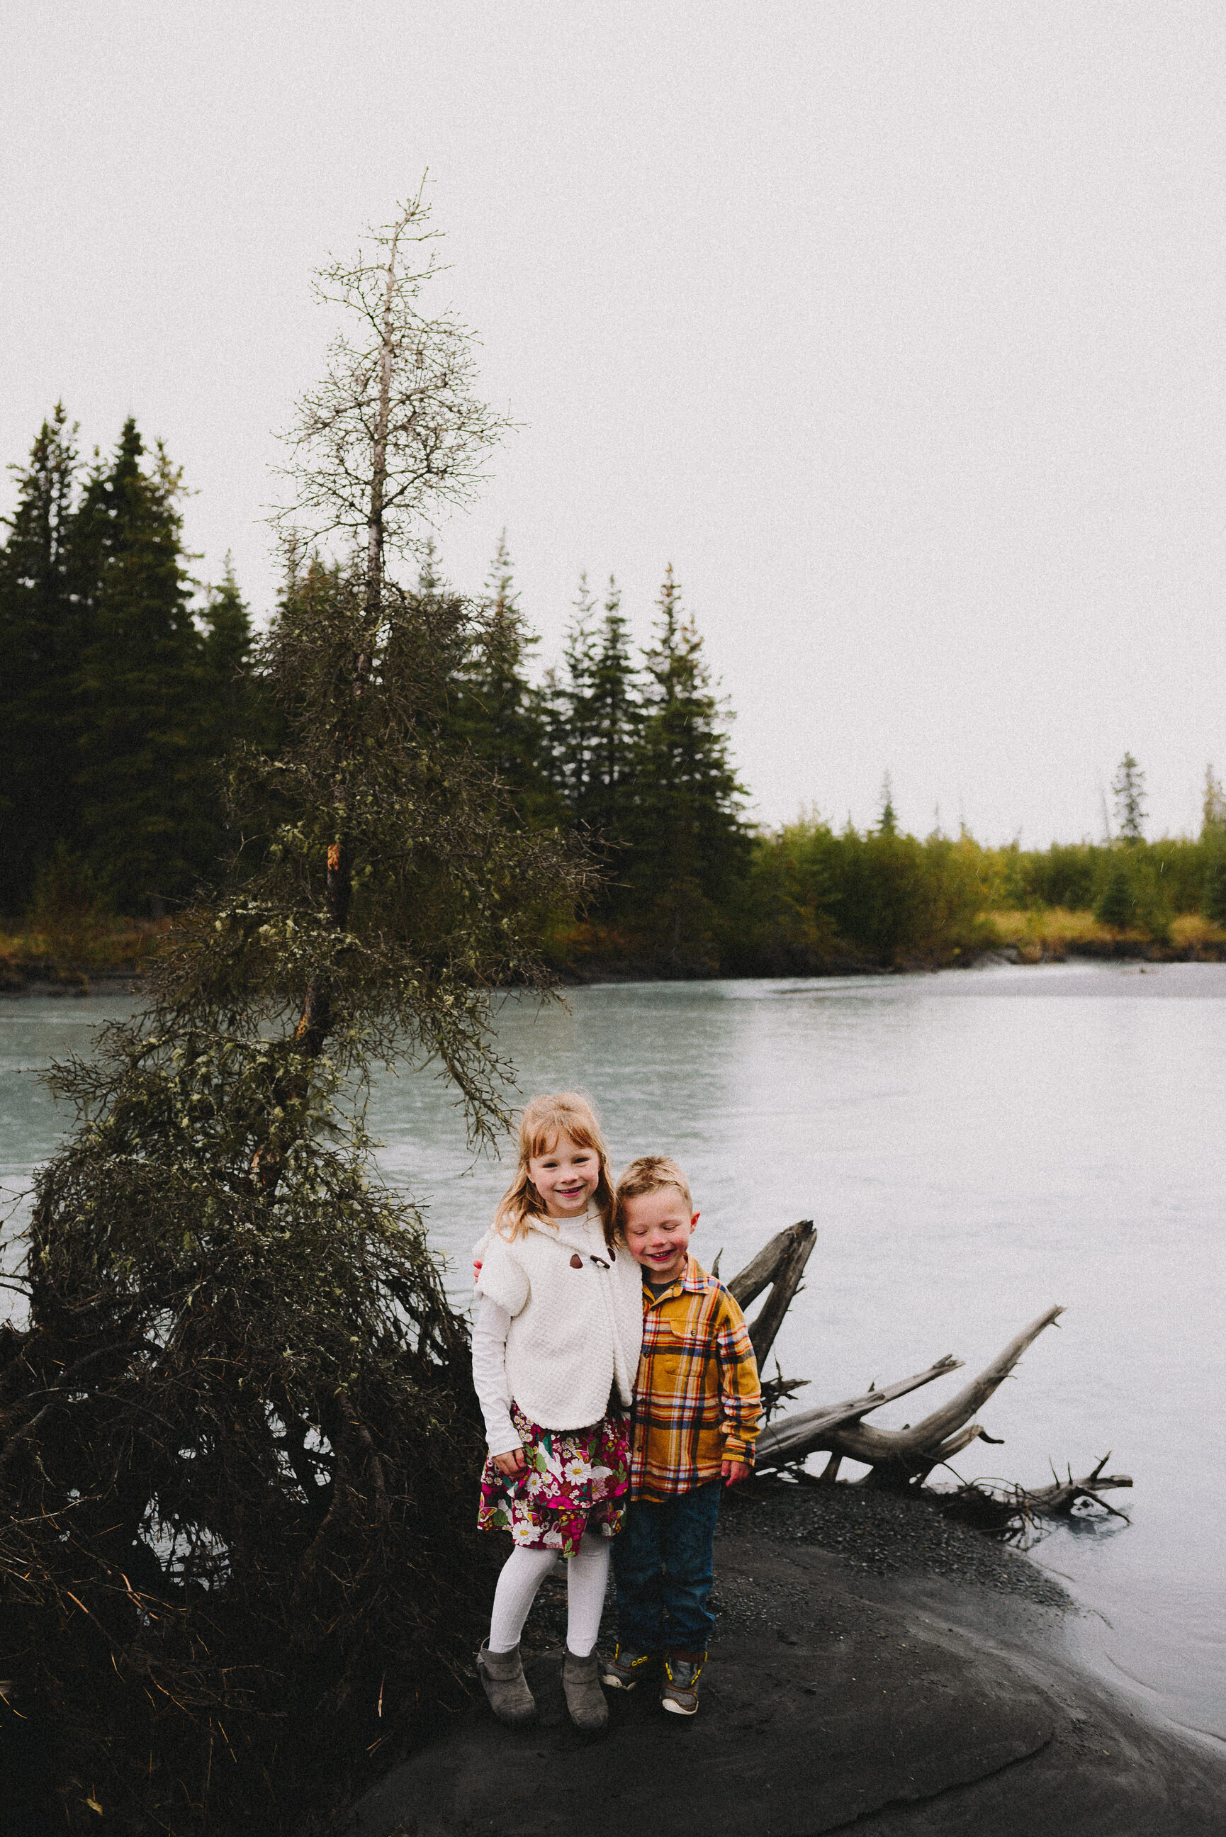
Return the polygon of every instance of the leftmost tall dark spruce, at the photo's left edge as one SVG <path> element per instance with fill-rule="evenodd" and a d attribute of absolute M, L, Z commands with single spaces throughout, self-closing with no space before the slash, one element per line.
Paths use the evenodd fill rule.
<path fill-rule="evenodd" d="M 39 867 L 79 845 L 77 674 L 83 608 L 72 580 L 75 424 L 57 402 L 18 468 L 0 547 L 0 911 L 17 918 Z"/>

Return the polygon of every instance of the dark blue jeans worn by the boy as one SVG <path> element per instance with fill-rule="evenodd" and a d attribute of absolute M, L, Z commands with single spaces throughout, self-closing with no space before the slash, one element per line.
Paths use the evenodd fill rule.
<path fill-rule="evenodd" d="M 706 1651 L 722 1481 L 675 1499 L 634 1499 L 614 1538 L 618 1639 L 638 1651 Z"/>

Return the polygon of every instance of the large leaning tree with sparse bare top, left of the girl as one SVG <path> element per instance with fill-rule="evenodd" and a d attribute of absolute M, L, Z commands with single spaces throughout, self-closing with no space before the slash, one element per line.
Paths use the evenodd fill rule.
<path fill-rule="evenodd" d="M 551 986 L 542 915 L 588 865 L 456 722 L 487 610 L 395 579 L 500 428 L 425 310 L 425 235 L 414 200 L 324 277 L 349 331 L 294 437 L 276 751 L 230 759 L 232 871 L 145 1012 L 53 1071 L 77 1121 L 0 1323 L 6 1833 L 301 1837 L 465 1697 L 493 1561 L 467 1332 L 362 1093 L 432 1060 L 500 1130 L 494 1005 Z"/>

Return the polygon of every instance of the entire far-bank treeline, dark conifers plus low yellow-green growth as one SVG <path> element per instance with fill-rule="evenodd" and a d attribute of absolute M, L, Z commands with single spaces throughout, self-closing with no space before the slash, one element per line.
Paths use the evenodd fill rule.
<path fill-rule="evenodd" d="M 189 577 L 182 481 L 129 421 L 83 463 L 57 408 L 18 470 L 0 547 L 0 911 L 68 902 L 156 917 L 210 885 L 226 834 L 222 759 L 276 748 L 259 643 L 230 569 Z M 290 557 L 285 599 L 344 593 L 336 569 Z M 454 597 L 428 553 L 417 595 Z M 448 626 L 447 619 L 439 628 Z M 448 626 L 450 628 L 450 626 Z M 985 849 L 965 832 L 836 832 L 812 817 L 772 834 L 744 790 L 693 617 L 667 569 L 636 652 L 616 580 L 581 577 L 561 663 L 540 676 L 505 544 L 480 636 L 448 659 L 445 744 L 496 768 L 517 821 L 577 828 L 601 878 L 579 913 L 542 915 L 559 966 L 643 974 L 811 974 L 954 963 L 1000 942 L 985 915 L 1068 909 L 1173 942 L 1189 913 L 1226 924 L 1226 801 L 1209 773 L 1197 840 L 1143 838 L 1143 777 L 1127 755 L 1110 843 Z M 254 838 L 257 852 L 259 840 Z M 1033 926 L 1031 926 L 1033 928 Z M 1101 939 L 1099 939 L 1101 942 Z"/>

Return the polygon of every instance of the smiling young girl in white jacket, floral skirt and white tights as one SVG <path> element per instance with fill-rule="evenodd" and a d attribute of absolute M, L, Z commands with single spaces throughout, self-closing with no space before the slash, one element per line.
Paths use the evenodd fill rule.
<path fill-rule="evenodd" d="M 612 1240 L 612 1178 L 583 1097 L 533 1097 L 520 1119 L 518 1168 L 478 1247 L 472 1380 L 489 1459 L 478 1523 L 515 1549 L 494 1591 L 478 1672 L 494 1714 L 535 1714 L 520 1631 L 537 1589 L 566 1560 L 562 1686 L 579 1729 L 608 1707 L 596 1635 L 608 1539 L 629 1484 L 629 1418 L 643 1337 L 641 1280 Z"/>

